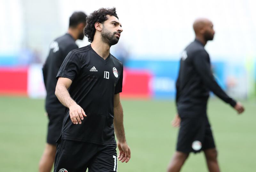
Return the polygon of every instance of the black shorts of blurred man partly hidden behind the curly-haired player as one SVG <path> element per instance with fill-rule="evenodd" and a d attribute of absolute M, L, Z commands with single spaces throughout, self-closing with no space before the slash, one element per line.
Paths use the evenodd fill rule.
<path fill-rule="evenodd" d="M 49 123 L 47 132 L 47 143 L 57 145 L 56 141 L 60 137 L 62 122 L 65 113 L 48 113 Z"/>

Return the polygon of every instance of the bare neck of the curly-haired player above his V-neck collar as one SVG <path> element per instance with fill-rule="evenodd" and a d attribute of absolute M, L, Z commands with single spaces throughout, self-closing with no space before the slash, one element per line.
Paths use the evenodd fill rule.
<path fill-rule="evenodd" d="M 100 55 L 104 60 L 107 59 L 110 53 L 110 46 L 101 41 L 101 39 L 93 39 L 92 41 L 92 49 Z"/>

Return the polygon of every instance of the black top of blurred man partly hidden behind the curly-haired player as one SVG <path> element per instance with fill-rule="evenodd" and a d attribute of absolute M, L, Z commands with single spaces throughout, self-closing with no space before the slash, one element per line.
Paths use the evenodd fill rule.
<path fill-rule="evenodd" d="M 65 107 L 55 96 L 56 75 L 68 53 L 78 48 L 75 39 L 68 33 L 52 41 L 50 52 L 43 67 L 44 85 L 46 89 L 45 109 L 47 113 L 63 114 Z"/>

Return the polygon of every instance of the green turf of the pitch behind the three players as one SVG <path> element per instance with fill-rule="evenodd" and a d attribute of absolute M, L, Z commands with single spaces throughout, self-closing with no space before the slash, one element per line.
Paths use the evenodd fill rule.
<path fill-rule="evenodd" d="M 175 150 L 177 129 L 171 101 L 123 100 L 130 162 L 118 163 L 119 172 L 164 172 Z M 209 103 L 209 118 L 225 172 L 256 171 L 256 103 L 244 102 L 238 116 L 219 99 Z M 0 171 L 35 172 L 44 149 L 47 117 L 44 100 L 0 97 Z M 204 155 L 191 154 L 183 172 L 207 171 Z"/>

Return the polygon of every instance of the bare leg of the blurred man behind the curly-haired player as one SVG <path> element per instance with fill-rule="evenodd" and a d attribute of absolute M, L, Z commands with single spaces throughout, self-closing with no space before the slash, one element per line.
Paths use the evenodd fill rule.
<path fill-rule="evenodd" d="M 39 162 L 39 172 L 50 172 L 54 163 L 56 145 L 46 143 L 44 153 Z"/>

